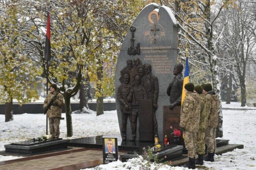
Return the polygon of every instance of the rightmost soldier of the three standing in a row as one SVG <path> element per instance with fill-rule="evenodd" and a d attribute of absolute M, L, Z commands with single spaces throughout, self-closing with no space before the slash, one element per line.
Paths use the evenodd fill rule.
<path fill-rule="evenodd" d="M 210 113 L 208 116 L 208 126 L 205 130 L 205 143 L 208 148 L 208 155 L 204 158 L 205 161 L 214 161 L 214 152 L 216 150 L 216 128 L 218 125 L 218 112 L 220 101 L 218 96 L 212 91 L 211 84 L 205 84 L 203 87 L 203 93 L 206 95 L 207 100 L 210 103 Z"/>

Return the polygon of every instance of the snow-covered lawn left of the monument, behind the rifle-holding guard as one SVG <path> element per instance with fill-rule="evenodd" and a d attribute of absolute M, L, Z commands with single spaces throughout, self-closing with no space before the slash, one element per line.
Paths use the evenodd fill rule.
<path fill-rule="evenodd" d="M 13 121 L 4 122 L 4 115 L 0 115 L 0 150 L 4 150 L 5 144 L 45 135 L 44 114 L 25 113 L 13 117 Z M 62 117 L 65 120 L 60 120 L 60 137 L 67 138 L 66 115 L 62 113 Z M 72 114 L 72 122 L 73 136 L 70 139 L 120 133 L 116 111 L 105 111 L 100 116 L 96 116 L 96 113 Z"/>

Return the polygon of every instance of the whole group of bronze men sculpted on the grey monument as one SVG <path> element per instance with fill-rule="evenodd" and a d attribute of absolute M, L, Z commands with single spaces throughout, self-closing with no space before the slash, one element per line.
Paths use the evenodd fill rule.
<path fill-rule="evenodd" d="M 132 63 L 133 62 L 133 63 Z M 131 122 L 132 137 L 136 139 L 137 118 L 139 112 L 139 99 L 153 100 L 153 122 L 154 135 L 158 136 L 158 127 L 155 111 L 159 93 L 158 79 L 152 74 L 150 64 L 142 65 L 140 59 L 134 58 L 126 61 L 127 66 L 121 70 L 119 81 L 122 83 L 118 87 L 117 98 L 122 111 L 122 139 L 126 140 L 127 118 Z"/>

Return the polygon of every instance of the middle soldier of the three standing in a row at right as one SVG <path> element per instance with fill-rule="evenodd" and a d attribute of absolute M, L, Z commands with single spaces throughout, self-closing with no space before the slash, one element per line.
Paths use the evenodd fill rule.
<path fill-rule="evenodd" d="M 203 165 L 203 155 L 205 153 L 204 135 L 208 123 L 210 103 L 209 100 L 207 100 L 205 95 L 203 94 L 203 87 L 201 85 L 195 86 L 195 92 L 199 94 L 201 104 L 199 130 L 197 132 L 196 137 L 198 159 L 196 160 L 195 164 Z"/>

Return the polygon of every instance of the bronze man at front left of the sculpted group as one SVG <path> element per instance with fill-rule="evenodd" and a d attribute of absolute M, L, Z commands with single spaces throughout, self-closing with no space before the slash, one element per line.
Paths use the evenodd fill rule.
<path fill-rule="evenodd" d="M 124 82 L 122 85 L 118 87 L 117 97 L 120 102 L 120 109 L 122 112 L 122 139 L 126 140 L 127 118 L 129 117 L 130 122 L 132 122 L 132 86 L 130 84 L 130 75 L 128 73 L 124 74 L 123 80 Z"/>

